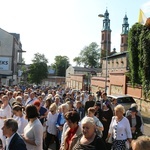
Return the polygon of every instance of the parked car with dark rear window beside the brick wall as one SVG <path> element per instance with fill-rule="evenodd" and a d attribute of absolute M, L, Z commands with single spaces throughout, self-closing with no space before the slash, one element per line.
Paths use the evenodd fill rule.
<path fill-rule="evenodd" d="M 117 103 L 123 105 L 126 111 L 130 108 L 131 104 L 136 103 L 133 97 L 128 95 L 112 94 L 107 95 L 107 97 L 110 101 L 113 98 L 117 99 Z"/>

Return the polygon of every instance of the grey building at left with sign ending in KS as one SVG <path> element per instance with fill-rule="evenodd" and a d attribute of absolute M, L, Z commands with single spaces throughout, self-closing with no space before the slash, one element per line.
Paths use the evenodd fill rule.
<path fill-rule="evenodd" d="M 0 28 L 0 86 L 19 82 L 23 52 L 20 35 Z"/>

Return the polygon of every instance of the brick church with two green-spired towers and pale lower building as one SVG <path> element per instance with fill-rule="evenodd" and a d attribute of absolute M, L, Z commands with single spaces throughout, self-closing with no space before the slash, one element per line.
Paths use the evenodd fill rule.
<path fill-rule="evenodd" d="M 125 14 L 122 24 L 122 32 L 120 36 L 120 51 L 116 52 L 114 48 L 111 51 L 111 29 L 108 10 L 104 14 L 103 27 L 101 31 L 101 56 L 105 56 L 101 60 L 102 73 L 101 76 L 109 76 L 114 72 L 126 72 L 128 70 L 128 18 Z"/>

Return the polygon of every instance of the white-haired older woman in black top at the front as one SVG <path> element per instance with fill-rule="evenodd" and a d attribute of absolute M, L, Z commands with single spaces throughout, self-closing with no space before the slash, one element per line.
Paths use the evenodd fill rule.
<path fill-rule="evenodd" d="M 82 134 L 79 136 L 74 150 L 106 150 L 104 141 L 96 134 L 96 125 L 92 117 L 84 117 L 81 121 Z"/>

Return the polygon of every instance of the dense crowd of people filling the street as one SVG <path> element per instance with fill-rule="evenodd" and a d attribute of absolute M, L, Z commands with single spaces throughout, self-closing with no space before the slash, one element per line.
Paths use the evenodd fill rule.
<path fill-rule="evenodd" d="M 6 150 L 48 150 L 54 142 L 56 150 L 138 150 L 150 142 L 136 104 L 125 111 L 101 90 L 18 86 L 0 91 L 0 140 Z"/>

